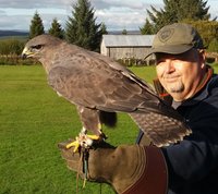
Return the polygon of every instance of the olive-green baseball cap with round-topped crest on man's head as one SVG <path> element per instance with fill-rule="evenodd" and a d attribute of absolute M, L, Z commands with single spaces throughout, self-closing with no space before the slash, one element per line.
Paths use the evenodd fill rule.
<path fill-rule="evenodd" d="M 174 23 L 164 26 L 157 33 L 146 57 L 156 52 L 179 54 L 191 48 L 204 49 L 202 37 L 193 26 L 184 23 Z"/>

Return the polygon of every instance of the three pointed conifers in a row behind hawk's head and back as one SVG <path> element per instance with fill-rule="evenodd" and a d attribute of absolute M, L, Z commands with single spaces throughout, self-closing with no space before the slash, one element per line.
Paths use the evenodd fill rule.
<path fill-rule="evenodd" d="M 95 10 L 89 0 L 77 0 L 72 5 L 72 15 L 68 17 L 65 28 L 61 27 L 58 19 L 53 19 L 48 34 L 65 39 L 93 51 L 99 51 L 102 34 L 107 34 L 104 23 L 97 24 Z M 40 15 L 36 12 L 29 27 L 29 38 L 45 34 Z"/>

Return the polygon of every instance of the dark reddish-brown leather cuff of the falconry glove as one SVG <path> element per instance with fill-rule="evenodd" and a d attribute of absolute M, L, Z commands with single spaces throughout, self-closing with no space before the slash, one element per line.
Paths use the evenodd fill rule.
<path fill-rule="evenodd" d="M 160 148 L 147 146 L 146 167 L 138 181 L 122 194 L 166 194 L 168 189 L 167 165 Z"/>

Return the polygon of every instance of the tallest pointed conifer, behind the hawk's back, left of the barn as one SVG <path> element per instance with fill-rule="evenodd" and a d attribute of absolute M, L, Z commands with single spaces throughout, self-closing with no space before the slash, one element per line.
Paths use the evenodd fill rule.
<path fill-rule="evenodd" d="M 95 11 L 90 7 L 90 2 L 77 0 L 72 8 L 72 16 L 69 16 L 66 22 L 66 40 L 83 48 L 99 51 L 102 36 L 101 24 L 96 24 Z"/>

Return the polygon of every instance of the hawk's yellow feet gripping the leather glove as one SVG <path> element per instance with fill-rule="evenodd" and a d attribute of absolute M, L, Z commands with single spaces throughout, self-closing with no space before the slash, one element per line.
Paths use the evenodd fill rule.
<path fill-rule="evenodd" d="M 80 134 L 75 141 L 66 144 L 66 148 L 71 148 L 71 147 L 74 147 L 73 151 L 76 153 L 78 151 L 78 147 L 85 147 L 85 148 L 88 148 L 93 145 L 93 142 L 94 141 L 98 141 L 100 140 L 100 136 L 97 136 L 97 135 L 86 135 L 86 134 Z"/>

